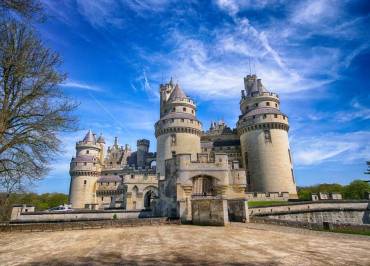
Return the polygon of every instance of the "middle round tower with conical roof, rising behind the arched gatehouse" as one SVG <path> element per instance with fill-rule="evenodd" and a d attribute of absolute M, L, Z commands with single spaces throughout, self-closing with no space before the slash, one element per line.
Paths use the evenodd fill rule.
<path fill-rule="evenodd" d="M 201 123 L 195 115 L 196 105 L 172 79 L 160 85 L 160 119 L 155 124 L 157 138 L 157 176 L 165 176 L 165 160 L 179 153 L 193 159 L 201 152 Z"/>

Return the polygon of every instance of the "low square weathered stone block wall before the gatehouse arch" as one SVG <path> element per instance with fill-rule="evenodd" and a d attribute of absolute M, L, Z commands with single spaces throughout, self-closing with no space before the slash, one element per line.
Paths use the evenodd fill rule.
<path fill-rule="evenodd" d="M 191 209 L 193 224 L 223 226 L 229 223 L 225 199 L 192 199 Z"/>

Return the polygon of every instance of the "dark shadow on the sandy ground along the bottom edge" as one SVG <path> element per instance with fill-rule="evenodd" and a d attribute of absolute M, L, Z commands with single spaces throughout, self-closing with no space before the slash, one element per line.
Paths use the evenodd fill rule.
<path fill-rule="evenodd" d="M 190 258 L 178 253 L 163 254 L 160 258 L 154 257 L 128 257 L 124 258 L 119 252 L 96 254 L 93 257 L 56 258 L 44 261 L 35 261 L 27 265 L 278 265 L 272 261 L 265 262 L 217 262 L 203 258 Z M 206 256 L 206 255 L 205 255 Z"/>

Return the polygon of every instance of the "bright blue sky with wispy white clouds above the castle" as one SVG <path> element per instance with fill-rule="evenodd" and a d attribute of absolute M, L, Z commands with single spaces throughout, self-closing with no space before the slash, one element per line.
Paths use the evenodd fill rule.
<path fill-rule="evenodd" d="M 108 144 L 155 150 L 158 86 L 171 76 L 198 103 L 208 129 L 235 127 L 243 77 L 279 93 L 290 117 L 298 185 L 365 178 L 370 159 L 369 1 L 44 0 L 37 25 L 63 58 L 62 85 L 80 102 L 80 131 L 31 189 L 68 192 L 75 142 L 88 129 Z M 251 64 L 249 64 L 251 62 Z"/>

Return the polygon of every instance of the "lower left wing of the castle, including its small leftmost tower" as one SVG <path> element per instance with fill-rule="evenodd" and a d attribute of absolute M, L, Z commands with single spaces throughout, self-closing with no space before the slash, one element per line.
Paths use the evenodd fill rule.
<path fill-rule="evenodd" d="M 118 139 L 104 155 L 105 140 L 89 131 L 76 144 L 70 175 L 70 204 L 73 208 L 126 210 L 151 208 L 158 195 L 156 154 L 149 152 L 149 141 L 138 140 L 137 151 L 120 147 Z"/>

